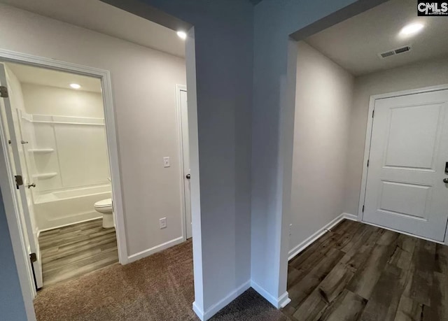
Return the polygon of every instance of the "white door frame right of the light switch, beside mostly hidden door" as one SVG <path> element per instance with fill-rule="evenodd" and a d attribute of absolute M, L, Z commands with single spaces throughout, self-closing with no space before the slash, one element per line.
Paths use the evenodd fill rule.
<path fill-rule="evenodd" d="M 179 140 L 179 166 L 181 169 L 181 217 L 182 217 L 182 238 L 183 241 L 187 239 L 187 211 L 186 211 L 186 190 L 184 185 L 185 173 L 183 172 L 183 135 L 182 135 L 182 110 L 181 110 L 181 91 L 186 92 L 186 85 L 176 84 L 176 127 L 177 127 L 177 136 Z"/>

